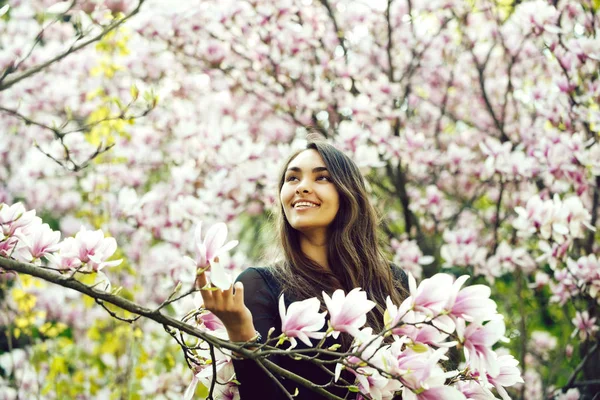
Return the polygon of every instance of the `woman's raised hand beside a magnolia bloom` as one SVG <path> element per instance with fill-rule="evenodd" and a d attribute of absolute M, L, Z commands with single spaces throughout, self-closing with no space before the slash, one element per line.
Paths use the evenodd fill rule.
<path fill-rule="evenodd" d="M 223 322 L 232 342 L 247 342 L 254 338 L 256 330 L 252 321 L 252 313 L 244 304 L 244 285 L 237 282 L 228 290 L 205 288 L 204 272 L 196 277 L 196 287 L 204 300 L 204 307 L 215 314 Z"/>

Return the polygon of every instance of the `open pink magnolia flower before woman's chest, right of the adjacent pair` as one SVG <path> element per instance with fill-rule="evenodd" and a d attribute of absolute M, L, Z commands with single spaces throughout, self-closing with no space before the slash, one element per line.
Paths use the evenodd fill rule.
<path fill-rule="evenodd" d="M 329 323 L 334 330 L 332 336 L 336 339 L 340 332 L 356 336 L 367 322 L 367 313 L 376 305 L 367 300 L 367 293 L 360 288 L 352 289 L 347 296 L 344 296 L 342 289 L 333 292 L 331 297 L 323 292 L 323 301 L 329 311 Z"/>

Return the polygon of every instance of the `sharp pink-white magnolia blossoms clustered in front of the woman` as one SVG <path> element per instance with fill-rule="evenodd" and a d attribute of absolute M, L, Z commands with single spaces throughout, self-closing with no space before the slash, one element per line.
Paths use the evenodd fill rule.
<path fill-rule="evenodd" d="M 321 348 L 328 336 L 338 338 L 350 334 L 354 340 L 348 353 L 340 353 L 335 368 L 336 380 L 343 369 L 355 377 L 358 390 L 374 399 L 391 399 L 402 392 L 406 399 L 494 399 L 492 390 L 510 399 L 505 387 L 523 382 L 511 355 L 493 348 L 506 341 L 503 318 L 496 303 L 489 298 L 490 289 L 483 285 L 463 288 L 468 276 L 457 280 L 448 274 L 437 274 L 418 286 L 409 275 L 410 296 L 399 306 L 388 297 L 385 329 L 373 332 L 364 327 L 366 314 L 375 307 L 360 288 L 349 293 L 337 290 L 332 296 L 323 293 L 325 312 L 318 299 L 310 298 L 285 306 L 282 295 L 279 312 L 281 336 L 273 338 L 277 348 L 285 341 L 292 352 L 297 340 Z M 209 312 L 197 317 L 207 332 L 226 337 L 222 324 Z M 325 328 L 327 327 L 327 328 Z M 452 347 L 464 349 L 460 369 L 442 367 L 445 354 Z M 235 393 L 231 358 L 219 353 L 216 393 Z M 198 382 L 209 385 L 212 366 L 197 361 L 198 367 L 186 398 L 191 398 Z M 360 396 L 359 396 L 360 397 Z"/>

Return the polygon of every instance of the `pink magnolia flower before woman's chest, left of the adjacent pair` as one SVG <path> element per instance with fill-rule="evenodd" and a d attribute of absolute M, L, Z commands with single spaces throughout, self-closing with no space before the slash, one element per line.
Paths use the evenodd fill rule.
<path fill-rule="evenodd" d="M 312 346 L 310 338 L 322 339 L 325 332 L 319 332 L 325 325 L 325 314 L 319 313 L 321 303 L 316 297 L 296 301 L 285 309 L 284 295 L 279 298 L 279 316 L 281 317 L 281 332 L 283 332 L 292 343 L 291 348 L 296 347 L 295 338 L 300 339 L 307 346 Z"/>

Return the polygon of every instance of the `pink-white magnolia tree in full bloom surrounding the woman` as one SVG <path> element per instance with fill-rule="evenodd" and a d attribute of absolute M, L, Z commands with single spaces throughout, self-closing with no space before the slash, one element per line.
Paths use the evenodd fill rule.
<path fill-rule="evenodd" d="M 333 382 L 365 398 L 598 390 L 597 2 L 0 4 L 7 396 L 232 397 L 231 351 L 285 374 L 226 341 L 193 282 L 265 251 L 307 127 L 359 164 L 390 258 L 424 279 L 385 332 L 359 289 L 282 297 L 260 354 L 337 351 L 354 381 Z M 319 347 L 340 332 L 347 352 Z"/>

